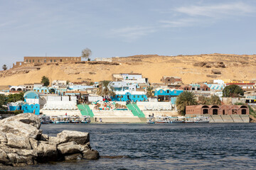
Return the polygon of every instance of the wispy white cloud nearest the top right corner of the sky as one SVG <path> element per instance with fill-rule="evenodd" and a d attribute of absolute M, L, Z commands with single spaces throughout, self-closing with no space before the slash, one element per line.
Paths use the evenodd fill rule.
<path fill-rule="evenodd" d="M 253 13 L 255 11 L 252 6 L 242 2 L 232 4 L 214 4 L 205 6 L 181 6 L 174 8 L 178 13 L 185 13 L 188 16 L 208 16 L 208 17 L 223 17 L 236 16 Z"/>

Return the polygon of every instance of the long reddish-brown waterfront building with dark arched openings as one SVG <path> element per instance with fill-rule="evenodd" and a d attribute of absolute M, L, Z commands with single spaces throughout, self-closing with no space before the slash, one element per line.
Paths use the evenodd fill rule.
<path fill-rule="evenodd" d="M 194 105 L 186 106 L 186 115 L 249 115 L 249 108 L 245 105 Z"/>

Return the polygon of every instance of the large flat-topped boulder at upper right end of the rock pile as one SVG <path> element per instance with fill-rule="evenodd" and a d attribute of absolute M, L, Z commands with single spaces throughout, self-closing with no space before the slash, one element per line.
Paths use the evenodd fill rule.
<path fill-rule="evenodd" d="M 84 145 L 90 141 L 90 135 L 88 132 L 77 132 L 73 130 L 63 130 L 57 134 L 60 143 L 77 142 L 77 144 Z"/>

